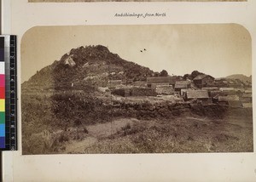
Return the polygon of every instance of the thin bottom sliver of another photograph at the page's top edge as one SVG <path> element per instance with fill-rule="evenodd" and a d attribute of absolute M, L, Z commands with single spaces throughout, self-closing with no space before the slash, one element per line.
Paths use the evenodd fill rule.
<path fill-rule="evenodd" d="M 247 0 L 28 0 L 28 3 L 81 3 L 81 2 L 247 2 Z"/>

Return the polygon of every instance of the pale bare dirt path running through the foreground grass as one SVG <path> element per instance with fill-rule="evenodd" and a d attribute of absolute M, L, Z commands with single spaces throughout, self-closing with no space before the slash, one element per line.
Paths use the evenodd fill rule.
<path fill-rule="evenodd" d="M 64 153 L 81 153 L 85 148 L 96 144 L 98 139 L 108 137 L 111 134 L 117 133 L 121 128 L 125 127 L 126 124 L 137 122 L 135 118 L 121 118 L 114 120 L 113 122 L 106 122 L 102 124 L 91 125 L 87 127 L 89 137 L 83 140 L 72 140 L 66 145 Z"/>

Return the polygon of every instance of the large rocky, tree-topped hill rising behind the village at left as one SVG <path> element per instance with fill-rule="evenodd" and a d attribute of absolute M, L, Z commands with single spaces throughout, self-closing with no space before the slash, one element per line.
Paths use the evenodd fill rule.
<path fill-rule="evenodd" d="M 87 84 L 106 86 L 108 80 L 143 81 L 154 71 L 123 60 L 102 45 L 73 48 L 61 60 L 38 71 L 22 87 L 59 88 Z"/>

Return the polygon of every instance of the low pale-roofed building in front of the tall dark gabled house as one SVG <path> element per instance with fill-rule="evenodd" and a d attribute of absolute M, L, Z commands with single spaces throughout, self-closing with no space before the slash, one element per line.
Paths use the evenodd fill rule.
<path fill-rule="evenodd" d="M 196 100 L 200 101 L 202 105 L 209 105 L 212 103 L 212 99 L 209 97 L 207 90 L 188 90 L 185 93 L 186 101 Z"/>

